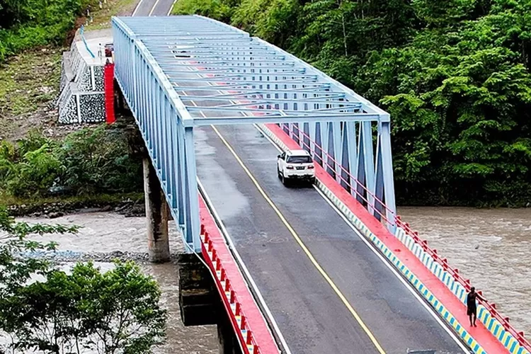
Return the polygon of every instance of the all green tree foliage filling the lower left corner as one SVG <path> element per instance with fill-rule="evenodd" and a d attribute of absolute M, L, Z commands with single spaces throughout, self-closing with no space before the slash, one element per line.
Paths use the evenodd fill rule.
<path fill-rule="evenodd" d="M 15 222 L 0 207 L 0 353 L 151 353 L 164 339 L 161 290 L 135 263 L 106 273 L 77 263 L 67 273 L 26 256 L 56 248 L 28 235 L 76 230 Z"/>

